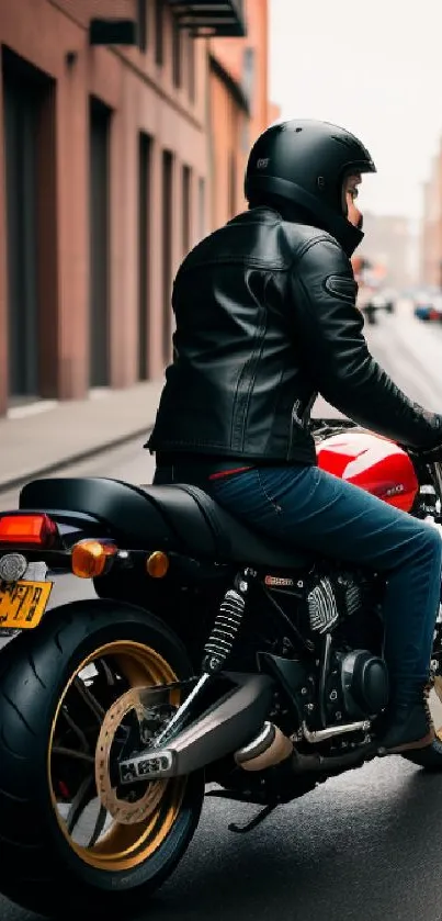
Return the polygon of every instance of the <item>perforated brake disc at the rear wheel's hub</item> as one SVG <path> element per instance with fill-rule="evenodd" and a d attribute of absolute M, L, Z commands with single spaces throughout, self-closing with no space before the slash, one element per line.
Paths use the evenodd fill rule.
<path fill-rule="evenodd" d="M 124 825 L 146 821 L 158 807 L 168 783 L 168 780 L 150 780 L 147 783 L 144 795 L 135 801 L 121 799 L 117 788 L 112 786 L 111 749 L 122 721 L 132 710 L 135 711 L 138 722 L 141 722 L 145 710 L 140 701 L 139 688 L 136 687 L 118 697 L 107 710 L 95 751 L 95 783 L 101 804 L 113 819 Z"/>

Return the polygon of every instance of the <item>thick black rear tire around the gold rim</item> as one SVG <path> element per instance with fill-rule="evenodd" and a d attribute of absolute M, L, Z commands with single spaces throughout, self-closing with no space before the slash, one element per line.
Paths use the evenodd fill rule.
<path fill-rule="evenodd" d="M 118 641 L 155 650 L 179 678 L 192 674 L 183 645 L 165 624 L 117 602 L 79 602 L 56 608 L 38 630 L 22 633 L 4 651 L 8 665 L 0 672 L 0 892 L 47 917 L 79 918 L 87 908 L 97 907 L 100 916 L 111 911 L 126 918 L 129 909 L 145 907 L 147 896 L 175 868 L 199 822 L 203 773 L 183 783 L 173 824 L 163 840 L 160 835 L 157 850 L 136 866 L 111 871 L 89 865 L 61 830 L 48 771 L 57 707 L 84 660 Z"/>

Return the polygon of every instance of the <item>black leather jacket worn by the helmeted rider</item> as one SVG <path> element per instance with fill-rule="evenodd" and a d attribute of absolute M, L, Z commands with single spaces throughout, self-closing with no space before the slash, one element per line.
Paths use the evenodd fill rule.
<path fill-rule="evenodd" d="M 408 400 L 369 352 L 351 262 L 324 231 L 270 207 L 235 217 L 184 259 L 173 288 L 173 363 L 151 453 L 316 463 L 317 393 L 416 448 L 442 417 Z"/>

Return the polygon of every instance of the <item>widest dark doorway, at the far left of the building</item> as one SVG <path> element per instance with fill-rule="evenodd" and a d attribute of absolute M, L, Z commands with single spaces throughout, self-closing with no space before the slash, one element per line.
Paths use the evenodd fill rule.
<path fill-rule="evenodd" d="M 55 202 L 45 189 L 43 201 L 39 176 L 43 147 L 48 125 L 44 112 L 54 82 L 9 48 L 2 48 L 4 100 L 4 150 L 7 183 L 7 252 L 8 252 L 8 362 L 9 395 L 12 403 L 42 395 L 41 344 L 44 336 L 54 336 L 46 328 L 41 303 L 38 262 L 45 250 L 48 221 Z M 52 138 L 49 138 L 49 142 Z M 46 153 L 54 151 L 46 148 Z M 47 247 L 46 247 L 47 248 Z M 54 257 L 55 258 L 55 257 Z M 45 279 L 45 281 L 47 281 Z M 54 324 L 55 325 L 55 324 Z M 54 356 L 53 356 L 54 359 Z"/>

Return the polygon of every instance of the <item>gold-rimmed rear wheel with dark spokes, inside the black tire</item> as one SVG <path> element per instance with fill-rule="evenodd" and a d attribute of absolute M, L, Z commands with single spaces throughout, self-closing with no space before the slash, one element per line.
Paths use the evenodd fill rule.
<path fill-rule="evenodd" d="M 185 778 L 113 789 L 110 809 L 95 780 L 97 743 L 110 707 L 133 688 L 174 681 L 155 650 L 133 641 L 110 642 L 81 662 L 60 697 L 48 748 L 52 801 L 71 849 L 95 869 L 127 871 L 144 863 L 179 815 Z"/>

